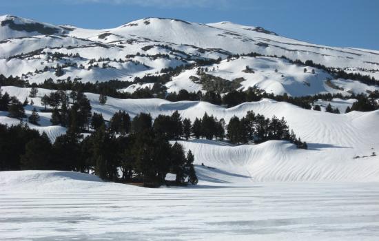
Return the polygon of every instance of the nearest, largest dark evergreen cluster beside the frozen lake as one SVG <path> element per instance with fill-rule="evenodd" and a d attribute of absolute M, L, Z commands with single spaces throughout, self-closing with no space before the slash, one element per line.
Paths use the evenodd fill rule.
<path fill-rule="evenodd" d="M 130 123 L 125 112 L 117 112 L 110 127 L 103 122 L 85 138 L 70 126 L 54 143 L 26 125 L 0 124 L 0 149 L 0 171 L 94 171 L 104 180 L 143 182 L 145 187 L 164 184 L 170 172 L 176 174 L 176 185 L 198 182 L 192 152 L 185 156 L 182 145 L 171 145 L 167 136 L 154 129 L 150 114 L 141 113 Z"/>

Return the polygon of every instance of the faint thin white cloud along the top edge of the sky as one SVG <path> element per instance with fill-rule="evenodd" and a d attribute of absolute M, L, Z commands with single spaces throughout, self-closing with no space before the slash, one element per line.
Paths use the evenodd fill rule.
<path fill-rule="evenodd" d="M 223 8 L 229 0 L 64 0 L 68 3 L 110 3 L 158 8 Z"/>

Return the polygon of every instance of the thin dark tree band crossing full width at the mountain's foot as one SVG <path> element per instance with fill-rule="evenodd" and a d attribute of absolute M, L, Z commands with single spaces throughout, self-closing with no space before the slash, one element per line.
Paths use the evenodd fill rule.
<path fill-rule="evenodd" d="M 81 83 L 80 81 L 59 81 L 54 83 L 54 81 L 47 80 L 44 83 L 39 85 L 33 83 L 30 85 L 28 81 L 23 81 L 18 77 L 4 77 L 0 75 L 0 85 L 14 85 L 18 87 L 43 87 L 50 90 L 74 90 L 75 92 L 91 92 L 94 94 L 101 94 L 103 96 L 111 96 L 114 98 L 163 98 L 167 101 L 206 101 L 212 103 L 214 105 L 225 105 L 227 107 L 234 107 L 241 103 L 245 102 L 253 102 L 260 101 L 262 98 L 270 98 L 275 101 L 285 101 L 287 103 L 291 103 L 298 107 L 302 107 L 304 109 L 312 109 L 314 107 L 314 102 L 321 99 L 323 101 L 331 101 L 332 98 L 356 98 L 358 103 L 353 105 L 350 110 L 356 110 L 360 112 L 368 112 L 372 110 L 379 109 L 378 103 L 376 103 L 375 99 L 378 96 L 379 92 L 376 90 L 371 92 L 368 96 L 365 94 L 354 94 L 352 93 L 350 96 L 345 96 L 342 94 L 314 94 L 312 96 L 300 96 L 300 97 L 292 97 L 287 94 L 283 95 L 275 95 L 264 92 L 263 90 L 259 90 L 255 87 L 250 87 L 245 92 L 232 90 L 227 94 L 221 96 L 218 92 L 188 92 L 187 90 L 180 90 L 178 93 L 167 93 L 166 88 L 161 83 L 170 79 L 168 75 L 162 76 L 145 76 L 141 79 L 136 79 L 136 81 L 153 81 L 154 85 L 151 89 L 139 89 L 136 90 L 133 94 L 130 93 L 121 93 L 118 90 L 123 87 L 128 87 L 132 83 L 125 81 L 107 81 L 103 83 Z M 156 81 L 156 82 L 154 82 Z M 316 107 L 316 110 L 317 107 Z M 341 110 L 343 112 L 344 110 Z"/>

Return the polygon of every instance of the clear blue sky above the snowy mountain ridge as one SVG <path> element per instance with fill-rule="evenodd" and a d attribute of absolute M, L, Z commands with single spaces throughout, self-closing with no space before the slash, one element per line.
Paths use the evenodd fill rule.
<path fill-rule="evenodd" d="M 293 39 L 379 50 L 378 0 L 0 0 L 0 14 L 82 28 L 144 17 L 262 26 Z"/>

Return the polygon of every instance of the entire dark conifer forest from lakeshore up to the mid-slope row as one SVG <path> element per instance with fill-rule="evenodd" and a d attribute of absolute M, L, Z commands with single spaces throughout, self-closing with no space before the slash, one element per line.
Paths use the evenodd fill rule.
<path fill-rule="evenodd" d="M 38 90 L 32 89 L 33 96 Z M 57 169 L 94 173 L 103 180 L 143 182 L 145 187 L 167 184 L 165 176 L 175 174 L 175 185 L 196 184 L 194 155 L 175 140 L 203 138 L 229 141 L 240 145 L 287 140 L 307 149 L 307 143 L 296 138 L 284 118 L 266 118 L 247 112 L 229 123 L 207 113 L 194 122 L 182 118 L 178 111 L 171 116 L 140 113 L 130 118 L 127 112 L 116 112 L 109 121 L 94 112 L 82 92 L 51 92 L 42 97 L 40 111 L 51 112 L 52 125 L 67 127 L 54 143 L 43 132 L 23 123 L 39 125 L 39 114 L 33 109 L 25 118 L 23 104 L 8 93 L 0 96 L 0 110 L 19 118 L 19 125 L 0 125 L 0 170 Z M 173 184 L 172 182 L 170 184 Z"/>

